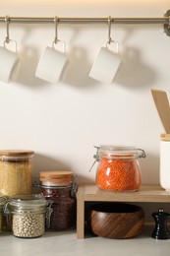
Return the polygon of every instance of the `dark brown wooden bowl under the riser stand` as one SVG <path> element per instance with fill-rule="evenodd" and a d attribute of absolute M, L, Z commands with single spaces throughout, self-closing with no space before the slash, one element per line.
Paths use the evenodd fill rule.
<path fill-rule="evenodd" d="M 91 206 L 89 226 L 98 236 L 131 238 L 142 231 L 144 212 L 141 207 L 121 203 L 103 203 Z"/>

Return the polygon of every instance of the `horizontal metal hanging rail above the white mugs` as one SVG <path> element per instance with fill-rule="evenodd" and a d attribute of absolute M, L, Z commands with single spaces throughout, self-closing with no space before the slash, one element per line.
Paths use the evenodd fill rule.
<path fill-rule="evenodd" d="M 53 24 L 55 17 L 0 17 L 0 23 L 15 24 Z M 60 24 L 107 24 L 108 18 L 58 18 Z M 170 35 L 170 10 L 162 18 L 111 18 L 112 24 L 160 24 L 164 25 L 167 35 Z"/>

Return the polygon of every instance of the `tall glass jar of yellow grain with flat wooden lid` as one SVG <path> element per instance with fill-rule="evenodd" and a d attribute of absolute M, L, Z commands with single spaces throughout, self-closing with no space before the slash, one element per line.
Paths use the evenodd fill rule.
<path fill-rule="evenodd" d="M 0 151 L 0 194 L 31 194 L 32 151 Z"/>

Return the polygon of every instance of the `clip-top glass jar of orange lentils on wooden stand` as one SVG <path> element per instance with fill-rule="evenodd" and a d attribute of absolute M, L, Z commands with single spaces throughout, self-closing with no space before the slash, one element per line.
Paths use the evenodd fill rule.
<path fill-rule="evenodd" d="M 102 145 L 95 147 L 94 159 L 99 161 L 96 185 L 109 191 L 136 191 L 142 183 L 138 159 L 145 158 L 141 149 Z"/>

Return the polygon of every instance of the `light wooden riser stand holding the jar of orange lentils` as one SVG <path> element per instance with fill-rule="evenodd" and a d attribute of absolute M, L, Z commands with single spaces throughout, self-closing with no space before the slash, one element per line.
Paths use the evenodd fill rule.
<path fill-rule="evenodd" d="M 110 192 L 96 185 L 80 185 L 77 193 L 77 238 L 85 238 L 85 202 L 170 203 L 170 192 L 144 185 L 135 192 Z"/>

